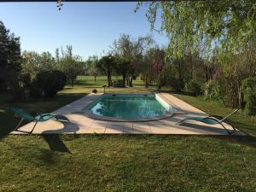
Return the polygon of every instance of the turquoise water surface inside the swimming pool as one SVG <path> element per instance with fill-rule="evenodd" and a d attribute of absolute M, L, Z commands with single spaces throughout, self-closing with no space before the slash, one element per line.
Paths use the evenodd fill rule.
<path fill-rule="evenodd" d="M 92 113 L 120 119 L 140 119 L 160 116 L 166 108 L 150 95 L 109 95 L 102 96 L 90 108 Z"/>

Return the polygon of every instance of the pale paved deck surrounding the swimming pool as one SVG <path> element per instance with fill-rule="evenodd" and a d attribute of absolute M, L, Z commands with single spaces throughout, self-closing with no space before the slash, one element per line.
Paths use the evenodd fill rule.
<path fill-rule="evenodd" d="M 174 114 L 166 119 L 159 119 L 146 122 L 113 122 L 108 120 L 91 119 L 84 113 L 76 113 L 82 108 L 95 101 L 100 94 L 90 94 L 79 100 L 69 103 L 66 106 L 55 110 L 55 114 L 67 116 L 70 122 L 61 123 L 55 119 L 45 122 L 38 122 L 32 131 L 35 122 L 20 127 L 20 131 L 32 131 L 32 134 L 184 134 L 184 135 L 229 135 L 221 125 L 206 125 L 198 121 L 186 120 L 180 125 L 177 123 L 191 116 L 206 117 L 207 113 L 189 105 L 186 102 L 168 93 L 158 95 L 175 108 L 179 108 L 186 114 Z M 230 125 L 226 128 L 232 131 Z M 237 128 L 236 128 L 237 129 Z M 26 134 L 20 131 L 13 131 L 13 134 Z M 237 130 L 232 135 L 246 135 Z"/>

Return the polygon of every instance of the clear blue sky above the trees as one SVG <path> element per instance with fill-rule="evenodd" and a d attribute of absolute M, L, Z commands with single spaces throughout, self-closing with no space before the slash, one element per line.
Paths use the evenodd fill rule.
<path fill-rule="evenodd" d="M 20 36 L 22 50 L 49 51 L 73 45 L 74 54 L 86 59 L 108 51 L 120 33 L 133 37 L 153 34 L 159 45 L 166 36 L 150 32 L 143 7 L 135 14 L 136 3 L 0 3 L 0 20 Z"/>

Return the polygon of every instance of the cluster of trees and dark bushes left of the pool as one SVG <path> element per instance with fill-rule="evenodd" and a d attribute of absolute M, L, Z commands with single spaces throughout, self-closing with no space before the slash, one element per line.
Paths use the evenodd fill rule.
<path fill-rule="evenodd" d="M 73 55 L 71 45 L 49 52 L 20 52 L 20 38 L 15 37 L 0 21 L 0 91 L 9 92 L 12 99 L 24 100 L 26 93 L 38 98 L 52 97 L 67 82 L 73 85 L 83 72 L 84 62 Z"/>

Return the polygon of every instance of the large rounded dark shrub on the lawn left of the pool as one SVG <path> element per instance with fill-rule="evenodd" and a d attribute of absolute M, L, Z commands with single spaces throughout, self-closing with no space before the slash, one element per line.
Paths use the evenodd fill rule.
<path fill-rule="evenodd" d="M 67 78 L 61 71 L 42 71 L 37 75 L 38 87 L 44 91 L 47 97 L 53 97 L 59 90 L 63 90 Z"/>

